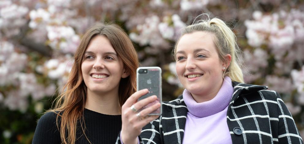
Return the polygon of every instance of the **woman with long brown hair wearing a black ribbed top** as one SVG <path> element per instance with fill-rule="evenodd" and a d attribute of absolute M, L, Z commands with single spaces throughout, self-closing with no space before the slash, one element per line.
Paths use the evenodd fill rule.
<path fill-rule="evenodd" d="M 88 29 L 66 89 L 39 120 L 32 143 L 114 143 L 121 106 L 136 92 L 137 53 L 116 24 Z"/>

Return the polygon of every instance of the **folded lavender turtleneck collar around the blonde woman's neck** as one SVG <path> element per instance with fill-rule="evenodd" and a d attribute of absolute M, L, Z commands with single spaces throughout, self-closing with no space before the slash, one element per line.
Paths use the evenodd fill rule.
<path fill-rule="evenodd" d="M 196 117 L 208 117 L 224 110 L 230 103 L 233 95 L 233 86 L 230 77 L 225 77 L 221 89 L 210 101 L 196 103 L 190 92 L 183 92 L 183 99 L 189 112 Z"/>

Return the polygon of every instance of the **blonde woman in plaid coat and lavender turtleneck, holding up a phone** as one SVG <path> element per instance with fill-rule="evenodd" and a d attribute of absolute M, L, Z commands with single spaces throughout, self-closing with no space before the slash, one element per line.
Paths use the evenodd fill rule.
<path fill-rule="evenodd" d="M 118 143 L 303 144 L 279 93 L 244 83 L 236 37 L 222 20 L 185 27 L 174 56 L 183 95 L 163 102 L 162 115 L 141 127 L 139 137 L 127 133 L 141 128 L 123 121 Z M 123 113 L 122 118 L 131 115 L 135 113 Z"/>

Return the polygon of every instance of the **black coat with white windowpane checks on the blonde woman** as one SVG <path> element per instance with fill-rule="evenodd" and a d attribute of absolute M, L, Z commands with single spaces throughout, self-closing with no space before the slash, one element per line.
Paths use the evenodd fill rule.
<path fill-rule="evenodd" d="M 227 110 L 232 143 L 303 144 L 296 124 L 277 92 L 259 85 L 238 82 L 232 82 L 232 85 L 234 93 Z M 140 143 L 183 142 L 188 112 L 183 96 L 163 102 L 162 106 L 162 115 L 143 128 Z"/>

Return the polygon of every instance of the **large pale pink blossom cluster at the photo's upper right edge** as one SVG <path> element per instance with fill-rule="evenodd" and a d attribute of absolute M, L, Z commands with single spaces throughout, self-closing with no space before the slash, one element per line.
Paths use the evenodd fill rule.
<path fill-rule="evenodd" d="M 304 44 L 304 16 L 302 15 L 304 15 L 303 12 L 294 9 L 289 13 L 280 11 L 272 15 L 254 12 L 254 20 L 245 20 L 249 45 L 260 47 L 267 44 L 274 53 L 275 59 L 283 59 L 286 52 L 294 51 L 294 45 Z"/>

